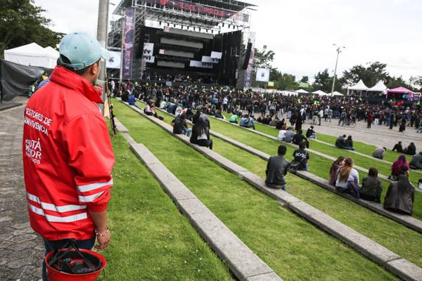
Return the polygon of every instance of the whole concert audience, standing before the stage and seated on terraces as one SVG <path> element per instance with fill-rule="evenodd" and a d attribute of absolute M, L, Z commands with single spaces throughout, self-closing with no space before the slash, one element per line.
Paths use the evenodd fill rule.
<path fill-rule="evenodd" d="M 130 85 L 130 84 L 129 84 Z M 298 145 L 293 152 L 292 162 L 285 158 L 287 148 L 280 145 L 278 155 L 270 157 L 266 169 L 266 185 L 269 188 L 286 190 L 285 176 L 288 171 L 307 171 L 309 152 L 309 138 L 316 138 L 314 125 L 321 125 L 321 119 L 328 120 L 339 118 L 339 125 L 364 120 L 371 124 L 399 126 L 422 126 L 421 106 L 397 107 L 392 103 L 370 105 L 356 97 L 350 98 L 324 98 L 324 97 L 295 97 L 277 96 L 269 93 L 256 93 L 253 91 L 236 91 L 228 88 L 204 89 L 198 87 L 181 86 L 176 88 L 161 88 L 159 86 L 134 85 L 127 87 L 127 96 L 136 96 L 148 103 L 145 112 L 155 115 L 155 104 L 160 108 L 176 115 L 172 121 L 174 133 L 190 136 L 191 143 L 212 149 L 210 139 L 210 121 L 207 115 L 225 119 L 222 112 L 231 113 L 229 122 L 247 128 L 255 129 L 255 122 L 275 126 L 279 129 L 279 141 Z M 132 91 L 131 91 L 132 90 Z M 195 113 L 193 111 L 196 110 Z M 245 112 L 245 113 L 244 113 Z M 255 113 L 260 116 L 255 119 Z M 373 112 L 376 112 L 375 114 Z M 380 114 L 382 112 L 382 114 Z M 283 118 L 286 115 L 286 118 Z M 306 119 L 312 120 L 312 126 L 305 135 L 302 124 Z M 398 120 L 404 120 L 399 124 Z M 187 120 L 193 122 L 193 128 L 188 128 Z M 290 124 L 290 126 L 288 126 Z M 404 125 L 403 125 L 404 124 Z M 352 136 L 339 136 L 335 141 L 337 148 L 354 150 Z M 373 157 L 383 159 L 387 148 L 376 148 Z M 402 148 L 401 142 L 397 143 L 393 151 L 414 155 L 411 164 L 406 157 L 401 155 L 392 164 L 390 178 L 392 183 L 388 187 L 384 199 L 385 209 L 412 214 L 414 201 L 414 186 L 409 182 L 409 169 L 422 168 L 422 152 L 416 155 L 416 147 L 411 143 L 407 148 Z M 381 202 L 383 184 L 378 178 L 376 167 L 369 169 L 368 176 L 359 184 L 359 173 L 354 169 L 353 159 L 340 156 L 333 162 L 329 171 L 329 183 L 334 185 L 338 192 L 347 192 L 357 198 L 373 202 Z"/>

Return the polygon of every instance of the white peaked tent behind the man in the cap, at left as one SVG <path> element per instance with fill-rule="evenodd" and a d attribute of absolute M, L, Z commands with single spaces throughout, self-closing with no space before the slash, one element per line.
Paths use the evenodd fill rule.
<path fill-rule="evenodd" d="M 43 48 L 37 43 L 30 43 L 4 50 L 4 59 L 20 65 L 54 68 L 58 59 L 58 51 L 51 47 Z"/>

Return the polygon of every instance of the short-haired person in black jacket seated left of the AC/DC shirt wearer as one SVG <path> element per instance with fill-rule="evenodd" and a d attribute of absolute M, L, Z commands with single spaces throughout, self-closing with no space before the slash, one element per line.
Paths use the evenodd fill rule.
<path fill-rule="evenodd" d="M 265 174 L 267 175 L 265 185 L 269 188 L 286 190 L 284 176 L 286 176 L 289 166 L 288 161 L 284 158 L 286 151 L 286 146 L 279 145 L 278 155 L 269 157 L 267 169 L 265 170 Z"/>

